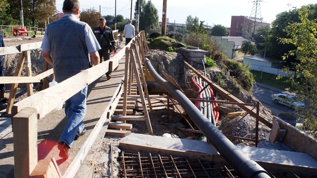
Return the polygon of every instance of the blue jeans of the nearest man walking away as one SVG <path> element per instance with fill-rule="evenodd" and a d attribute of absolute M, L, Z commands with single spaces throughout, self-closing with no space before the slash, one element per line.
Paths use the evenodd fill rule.
<path fill-rule="evenodd" d="M 72 146 L 76 134 L 81 133 L 84 129 L 83 120 L 87 110 L 87 90 L 88 86 L 65 101 L 65 114 L 68 119 L 68 123 L 58 142 L 64 141 L 69 147 Z"/>

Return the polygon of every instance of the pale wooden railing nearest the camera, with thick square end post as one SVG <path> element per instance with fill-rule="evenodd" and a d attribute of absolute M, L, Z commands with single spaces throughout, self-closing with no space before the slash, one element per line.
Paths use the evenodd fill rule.
<path fill-rule="evenodd" d="M 61 177 L 58 171 L 57 164 L 54 159 L 41 160 L 38 162 L 37 120 L 40 118 L 43 118 L 46 114 L 50 113 L 56 106 L 58 106 L 60 103 L 67 100 L 73 94 L 77 93 L 78 91 L 83 89 L 85 86 L 91 84 L 92 82 L 94 82 L 95 80 L 103 76 L 107 71 L 110 71 L 110 70 L 112 71 L 113 69 L 117 68 L 119 65 L 119 60 L 124 55 L 129 56 L 130 45 L 131 43 L 134 42 L 135 39 L 139 39 L 139 43 L 136 43 L 136 45 L 142 45 L 140 44 L 140 41 L 143 41 L 146 43 L 145 35 L 143 32 L 141 32 L 128 45 L 126 45 L 125 48 L 120 50 L 113 58 L 107 60 L 106 62 L 103 62 L 83 72 L 80 72 L 76 74 L 75 76 L 68 78 L 65 81 L 58 83 L 57 85 L 53 87 L 39 91 L 13 105 L 11 110 L 11 116 L 12 116 L 13 140 L 14 140 L 13 144 L 14 144 L 14 163 L 15 163 L 14 177 L 15 178 L 31 177 L 32 172 L 35 173 L 35 172 L 38 172 L 38 169 L 41 169 L 41 165 L 39 164 L 43 164 L 43 166 L 49 164 L 51 166 L 50 174 L 55 175 L 55 177 Z M 36 47 L 38 47 L 38 45 Z M 27 51 L 29 50 L 30 48 L 27 48 L 27 50 L 24 50 L 21 54 L 23 55 L 24 53 L 27 53 Z M 23 57 L 20 57 L 20 58 L 23 58 Z M 41 75 L 41 77 L 43 76 L 46 76 L 46 75 Z M 23 78 L 24 81 L 21 83 L 25 83 L 26 81 L 31 83 L 33 81 L 37 81 L 39 78 L 40 77 L 36 77 L 36 79 L 33 79 L 33 77 L 29 77 L 26 80 L 24 80 Z M 8 81 L 8 80 L 9 78 L 6 78 L 5 81 Z M 18 81 L 18 79 L 14 79 L 14 80 Z M 69 86 L 72 86 L 72 87 L 70 88 Z M 117 90 L 119 90 L 119 88 Z M 117 97 L 117 96 L 114 96 L 114 97 Z M 114 112 L 113 111 L 114 109 L 111 109 L 112 113 L 109 113 L 108 110 L 110 110 L 109 107 L 106 108 L 106 111 L 104 112 L 103 116 L 99 119 L 92 133 L 87 138 L 83 147 L 80 149 L 79 153 L 77 154 L 75 159 L 72 161 L 71 165 L 69 166 L 69 168 L 67 169 L 63 177 L 71 178 L 74 176 L 73 174 L 76 173 L 76 170 L 79 169 L 80 161 L 78 160 L 82 160 L 85 158 L 85 156 L 88 153 L 87 150 L 90 149 L 94 140 L 96 139 L 96 135 L 101 131 L 106 118 L 109 118 Z M 68 170 L 72 170 L 72 171 L 68 172 Z M 43 173 L 43 174 L 47 174 L 47 173 Z M 42 175 L 42 177 L 44 177 L 44 175 Z"/>

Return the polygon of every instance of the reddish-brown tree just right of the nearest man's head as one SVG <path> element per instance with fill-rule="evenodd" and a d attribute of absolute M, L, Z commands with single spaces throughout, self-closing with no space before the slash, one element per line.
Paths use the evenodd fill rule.
<path fill-rule="evenodd" d="M 95 8 L 85 9 L 80 13 L 80 21 L 88 23 L 94 29 L 99 26 L 99 12 Z"/>

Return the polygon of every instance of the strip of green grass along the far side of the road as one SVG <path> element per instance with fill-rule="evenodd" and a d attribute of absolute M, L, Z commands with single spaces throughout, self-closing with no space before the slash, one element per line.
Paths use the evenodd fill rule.
<path fill-rule="evenodd" d="M 278 89 L 290 88 L 291 90 L 293 90 L 292 85 L 288 82 L 288 78 L 286 77 L 283 77 L 282 79 L 276 79 L 277 75 L 263 72 L 262 80 L 260 81 L 261 71 L 251 70 L 250 72 L 253 74 L 256 82 L 259 82 L 261 84 L 265 84 L 271 87 L 275 87 Z"/>

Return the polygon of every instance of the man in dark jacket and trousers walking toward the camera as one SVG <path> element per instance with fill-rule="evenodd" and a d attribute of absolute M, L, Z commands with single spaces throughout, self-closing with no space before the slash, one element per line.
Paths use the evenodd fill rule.
<path fill-rule="evenodd" d="M 104 61 L 110 59 L 110 53 L 113 51 L 116 52 L 115 40 L 113 33 L 110 27 L 106 26 L 106 19 L 99 19 L 99 27 L 94 28 L 94 34 L 96 39 L 101 46 L 101 49 L 98 50 L 100 56 L 100 63 L 104 57 Z M 111 79 L 111 71 L 106 72 L 107 80 Z"/>

